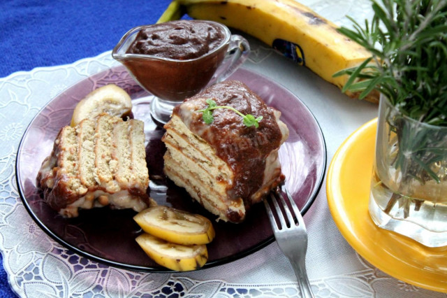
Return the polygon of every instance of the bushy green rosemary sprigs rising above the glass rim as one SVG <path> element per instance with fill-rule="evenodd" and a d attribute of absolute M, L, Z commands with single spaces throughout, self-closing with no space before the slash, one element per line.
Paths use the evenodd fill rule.
<path fill-rule="evenodd" d="M 447 0 L 372 0 L 374 17 L 365 27 L 339 32 L 371 52 L 348 75 L 344 90 L 364 98 L 378 90 L 404 115 L 447 126 Z"/>

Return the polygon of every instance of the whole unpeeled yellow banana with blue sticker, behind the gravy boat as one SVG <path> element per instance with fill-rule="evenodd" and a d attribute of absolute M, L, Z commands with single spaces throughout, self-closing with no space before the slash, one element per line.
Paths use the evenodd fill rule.
<path fill-rule="evenodd" d="M 173 3 L 160 22 L 175 20 L 182 13 L 221 22 L 260 39 L 340 89 L 348 76 L 332 75 L 371 56 L 361 45 L 340 34 L 335 24 L 294 0 L 174 0 Z M 359 95 L 346 94 L 354 98 Z M 378 102 L 379 94 L 372 92 L 366 99 Z"/>

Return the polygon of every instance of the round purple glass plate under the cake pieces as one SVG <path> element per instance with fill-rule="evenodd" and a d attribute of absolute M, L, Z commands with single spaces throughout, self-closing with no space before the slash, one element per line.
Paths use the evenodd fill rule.
<path fill-rule="evenodd" d="M 321 187 L 325 172 L 325 142 L 318 122 L 300 99 L 272 80 L 247 69 L 238 69 L 231 78 L 241 80 L 266 104 L 282 112 L 281 120 L 290 129 L 290 136 L 279 150 L 279 159 L 286 176 L 286 187 L 304 215 Z M 36 188 L 41 163 L 50 154 L 59 129 L 69 125 L 75 105 L 92 90 L 110 83 L 119 85 L 131 94 L 133 117 L 145 121 L 151 197 L 159 204 L 215 218 L 163 175 L 163 154 L 166 150 L 161 142 L 163 129 L 157 127 L 148 116 L 148 105 L 142 104 L 150 94 L 135 83 L 124 66 L 108 69 L 73 85 L 36 115 L 24 133 L 17 152 L 20 196 L 38 225 L 75 253 L 124 269 L 170 271 L 149 259 L 135 242 L 141 229 L 133 221 L 134 211 L 96 208 L 80 211 L 78 218 L 66 219 L 45 204 Z M 237 260 L 274 240 L 263 204 L 253 206 L 241 224 L 214 222 L 214 228 L 217 236 L 207 246 L 209 260 L 203 268 Z"/>

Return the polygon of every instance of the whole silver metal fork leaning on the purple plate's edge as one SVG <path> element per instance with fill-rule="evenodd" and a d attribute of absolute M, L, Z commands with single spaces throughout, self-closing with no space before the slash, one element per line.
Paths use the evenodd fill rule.
<path fill-rule="evenodd" d="M 284 196 L 286 194 L 286 196 Z M 276 210 L 279 223 L 275 220 L 274 213 L 268 199 L 264 199 L 265 208 L 267 209 L 270 223 L 274 233 L 274 238 L 277 240 L 279 248 L 288 260 L 291 262 L 295 275 L 298 279 L 298 285 L 300 286 L 302 297 L 314 297 L 310 288 L 309 278 L 307 278 L 306 272 L 306 252 L 307 252 L 307 231 L 304 220 L 300 213 L 300 209 L 296 206 L 295 201 L 288 193 L 286 187 L 278 187 L 277 192 L 271 192 L 270 197 L 273 202 L 274 209 Z M 290 202 L 292 208 L 288 207 L 286 200 Z M 281 207 L 278 203 L 278 198 L 284 213 L 281 211 Z"/>

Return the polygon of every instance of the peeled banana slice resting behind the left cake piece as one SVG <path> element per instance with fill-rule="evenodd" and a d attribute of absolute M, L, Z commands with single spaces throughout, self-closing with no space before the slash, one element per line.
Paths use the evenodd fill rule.
<path fill-rule="evenodd" d="M 105 85 L 82 99 L 73 111 L 71 126 L 78 125 L 86 118 L 94 118 L 101 113 L 112 116 L 124 116 L 131 113 L 132 101 L 129 94 L 117 85 Z"/>

